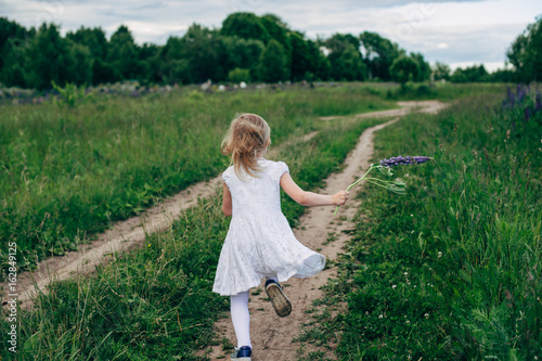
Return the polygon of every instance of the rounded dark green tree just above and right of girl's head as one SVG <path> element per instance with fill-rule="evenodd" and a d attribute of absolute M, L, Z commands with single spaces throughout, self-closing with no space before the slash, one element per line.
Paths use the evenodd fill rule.
<path fill-rule="evenodd" d="M 266 82 L 286 80 L 289 77 L 284 47 L 272 39 L 260 56 L 259 78 Z"/>

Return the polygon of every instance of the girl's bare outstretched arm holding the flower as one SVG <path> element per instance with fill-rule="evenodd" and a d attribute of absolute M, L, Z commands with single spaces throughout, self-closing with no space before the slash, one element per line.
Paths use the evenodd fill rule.
<path fill-rule="evenodd" d="M 292 179 L 289 172 L 285 172 L 281 178 L 281 186 L 286 192 L 287 195 L 292 197 L 292 199 L 299 203 L 305 207 L 314 207 L 314 206 L 341 206 L 348 199 L 350 195 L 346 191 L 340 191 L 335 193 L 334 195 L 323 195 L 317 194 L 312 192 L 306 192 L 301 190 L 299 185 Z"/>

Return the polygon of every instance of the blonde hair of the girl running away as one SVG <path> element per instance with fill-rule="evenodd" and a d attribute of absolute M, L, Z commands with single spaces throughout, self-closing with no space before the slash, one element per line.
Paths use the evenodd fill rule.
<path fill-rule="evenodd" d="M 221 151 L 231 154 L 235 175 L 244 179 L 244 172 L 251 177 L 261 170 L 257 155 L 271 143 L 271 129 L 262 117 L 256 114 L 235 114 L 230 129 L 222 141 Z"/>

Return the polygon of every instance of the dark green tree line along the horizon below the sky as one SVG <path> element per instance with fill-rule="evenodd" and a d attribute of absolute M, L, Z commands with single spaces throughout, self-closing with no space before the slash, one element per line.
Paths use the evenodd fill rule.
<path fill-rule="evenodd" d="M 193 24 L 182 37 L 171 36 L 164 46 L 137 44 L 124 25 L 109 39 L 100 27 L 80 27 L 62 37 L 55 24 L 27 29 L 0 17 L 0 82 L 8 87 L 48 89 L 53 81 L 57 85 L 121 80 L 198 83 L 207 79 L 406 82 L 425 81 L 433 75 L 436 80 L 463 82 L 514 81 L 530 79 L 533 74 L 534 79 L 540 79 L 541 57 L 529 63 L 522 55 L 537 46 L 540 52 L 540 31 L 539 18 L 511 47 L 507 56 L 514 72 L 490 75 L 481 65 L 456 69 L 453 74 L 443 63 L 431 68 L 421 53 L 408 53 L 376 33 L 335 34 L 327 39 L 311 40 L 273 14 L 233 13 L 220 29 Z"/>

